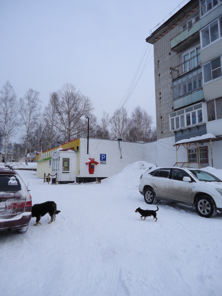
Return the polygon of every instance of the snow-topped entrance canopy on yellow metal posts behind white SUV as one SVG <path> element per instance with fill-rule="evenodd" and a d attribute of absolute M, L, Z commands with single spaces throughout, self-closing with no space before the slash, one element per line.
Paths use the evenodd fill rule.
<path fill-rule="evenodd" d="M 206 137 L 205 137 L 206 136 Z M 200 138 L 200 139 L 198 139 Z M 210 146 L 210 153 L 211 153 L 211 165 L 212 165 L 212 168 L 213 168 L 213 150 L 212 150 L 212 144 L 215 142 L 215 141 L 221 141 L 222 138 L 217 138 L 215 137 L 214 135 L 211 135 L 211 134 L 207 134 L 207 135 L 203 135 L 201 137 L 196 137 L 196 138 L 190 138 L 190 139 L 184 139 L 184 142 L 183 141 L 179 141 L 177 143 L 175 143 L 173 145 L 173 147 L 176 147 L 176 163 L 175 165 L 178 166 L 184 166 L 184 165 L 189 165 L 190 163 L 194 164 L 193 162 L 189 162 L 189 148 L 191 145 L 195 145 L 197 147 L 197 155 L 198 155 L 198 161 L 195 162 L 198 164 L 199 168 L 201 168 L 201 166 L 204 167 L 204 165 L 202 165 L 200 163 L 200 146 L 203 145 L 204 143 L 207 143 L 209 146 Z M 186 162 L 178 162 L 178 157 L 177 157 L 177 150 L 183 146 L 184 148 L 186 148 L 186 155 L 187 155 L 187 161 Z M 174 165 L 174 166 L 175 166 Z"/>

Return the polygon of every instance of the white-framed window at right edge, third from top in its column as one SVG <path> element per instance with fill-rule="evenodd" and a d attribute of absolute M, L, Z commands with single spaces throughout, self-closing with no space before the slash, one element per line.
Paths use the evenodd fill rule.
<path fill-rule="evenodd" d="M 203 65 L 204 83 L 222 76 L 221 57 L 217 57 Z"/>

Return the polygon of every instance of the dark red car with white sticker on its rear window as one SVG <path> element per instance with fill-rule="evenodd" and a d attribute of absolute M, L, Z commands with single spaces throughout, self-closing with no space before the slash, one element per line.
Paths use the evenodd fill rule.
<path fill-rule="evenodd" d="M 22 178 L 0 166 L 0 231 L 25 233 L 31 220 L 32 198 Z"/>

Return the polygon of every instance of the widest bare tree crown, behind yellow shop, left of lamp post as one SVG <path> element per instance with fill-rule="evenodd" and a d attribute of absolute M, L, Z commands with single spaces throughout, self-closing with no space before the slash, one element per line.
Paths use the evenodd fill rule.
<path fill-rule="evenodd" d="M 64 141 L 68 142 L 78 135 L 81 118 L 94 110 L 89 97 L 76 91 L 72 83 L 65 83 L 57 91 L 55 106 L 59 116 L 57 130 L 62 133 Z"/>

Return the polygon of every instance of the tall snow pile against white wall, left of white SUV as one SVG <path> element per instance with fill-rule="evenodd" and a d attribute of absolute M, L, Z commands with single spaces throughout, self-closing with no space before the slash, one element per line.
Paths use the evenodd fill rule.
<path fill-rule="evenodd" d="M 136 161 L 127 165 L 120 173 L 102 180 L 107 185 L 135 187 L 139 184 L 140 176 L 149 170 L 150 167 L 155 166 L 153 163 L 146 161 Z"/>

